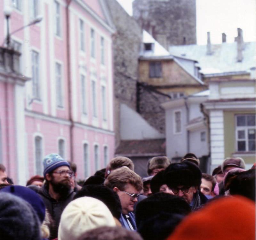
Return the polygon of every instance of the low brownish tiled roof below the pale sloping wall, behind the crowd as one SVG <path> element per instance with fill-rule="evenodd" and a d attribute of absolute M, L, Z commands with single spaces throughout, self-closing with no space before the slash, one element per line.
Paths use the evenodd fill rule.
<path fill-rule="evenodd" d="M 165 139 L 122 140 L 115 154 L 127 157 L 165 155 Z"/>

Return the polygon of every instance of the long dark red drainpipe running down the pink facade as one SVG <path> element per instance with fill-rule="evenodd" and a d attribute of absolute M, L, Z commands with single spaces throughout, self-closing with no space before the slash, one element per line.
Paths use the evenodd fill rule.
<path fill-rule="evenodd" d="M 73 151 L 73 129 L 74 121 L 72 114 L 72 86 L 71 86 L 71 64 L 70 64 L 70 42 L 69 42 L 69 5 L 72 0 L 67 0 L 66 6 L 66 28 L 67 28 L 67 71 L 68 71 L 68 120 L 70 122 L 69 127 L 69 142 L 70 142 L 70 161 L 74 161 L 74 151 Z"/>

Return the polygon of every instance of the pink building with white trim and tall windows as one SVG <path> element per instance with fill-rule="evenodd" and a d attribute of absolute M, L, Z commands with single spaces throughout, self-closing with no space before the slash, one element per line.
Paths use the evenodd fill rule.
<path fill-rule="evenodd" d="M 0 162 L 16 184 L 43 173 L 46 154 L 77 164 L 78 179 L 114 155 L 113 24 L 102 0 L 0 1 L 0 41 L 12 6 L 16 71 L 0 59 Z M 17 67 L 18 66 L 18 67 Z"/>

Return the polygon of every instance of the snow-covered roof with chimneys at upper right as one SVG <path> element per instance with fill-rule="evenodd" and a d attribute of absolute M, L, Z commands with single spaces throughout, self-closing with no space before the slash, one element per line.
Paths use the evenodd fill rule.
<path fill-rule="evenodd" d="M 237 42 L 212 44 L 212 55 L 207 55 L 206 45 L 170 46 L 170 54 L 196 59 L 203 74 L 249 71 L 255 67 L 255 42 L 245 42 L 243 60 L 237 62 Z"/>

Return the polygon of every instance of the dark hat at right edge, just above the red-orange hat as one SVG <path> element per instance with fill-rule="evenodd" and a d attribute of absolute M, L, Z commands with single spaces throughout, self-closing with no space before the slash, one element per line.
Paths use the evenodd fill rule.
<path fill-rule="evenodd" d="M 242 195 L 255 201 L 255 169 L 238 173 L 229 185 L 231 195 Z"/>

